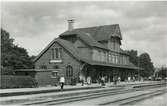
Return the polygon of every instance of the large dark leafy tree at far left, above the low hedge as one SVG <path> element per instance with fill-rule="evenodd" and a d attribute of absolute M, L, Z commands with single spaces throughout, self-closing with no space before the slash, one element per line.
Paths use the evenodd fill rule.
<path fill-rule="evenodd" d="M 13 43 L 10 34 L 1 29 L 1 71 L 2 74 L 12 74 L 14 69 L 33 68 L 33 61 L 26 49 Z"/>

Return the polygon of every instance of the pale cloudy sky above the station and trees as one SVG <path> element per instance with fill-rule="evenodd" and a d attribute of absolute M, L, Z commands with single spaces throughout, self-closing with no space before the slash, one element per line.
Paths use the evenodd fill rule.
<path fill-rule="evenodd" d="M 167 2 L 3 2 L 1 12 L 2 27 L 29 55 L 74 18 L 75 28 L 119 24 L 123 49 L 149 53 L 155 66 L 167 63 Z"/>

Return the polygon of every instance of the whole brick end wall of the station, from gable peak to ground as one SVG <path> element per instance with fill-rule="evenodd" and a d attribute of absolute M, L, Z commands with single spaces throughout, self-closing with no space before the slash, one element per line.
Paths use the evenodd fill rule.
<path fill-rule="evenodd" d="M 51 57 L 51 49 L 52 48 L 62 48 L 62 62 L 61 63 L 50 63 L 50 57 Z M 76 76 L 78 75 L 79 72 L 79 67 L 80 67 L 80 62 L 76 60 L 72 54 L 70 54 L 65 48 L 63 48 L 60 44 L 55 42 L 51 47 L 48 48 L 48 50 L 36 61 L 35 63 L 35 68 L 39 69 L 41 65 L 46 65 L 47 69 L 54 69 L 54 66 L 58 66 L 59 70 L 58 74 L 59 76 L 64 76 L 65 77 L 65 82 L 66 84 L 71 83 L 71 79 L 66 77 L 66 67 L 68 65 L 71 65 L 73 67 L 73 75 Z M 55 69 L 56 70 L 56 69 Z M 49 84 L 52 82 L 51 78 L 51 72 L 43 72 L 43 73 L 38 73 L 37 79 L 40 79 L 39 82 L 44 83 L 44 84 Z M 47 76 L 47 77 L 46 77 Z M 43 79 L 42 79 L 43 78 Z M 43 81 L 43 82 L 42 82 Z"/>

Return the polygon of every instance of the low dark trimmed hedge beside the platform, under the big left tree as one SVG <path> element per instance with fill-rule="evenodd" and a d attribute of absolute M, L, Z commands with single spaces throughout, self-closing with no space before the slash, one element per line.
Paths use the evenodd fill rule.
<path fill-rule="evenodd" d="M 0 88 L 33 88 L 37 82 L 30 76 L 2 75 Z"/>

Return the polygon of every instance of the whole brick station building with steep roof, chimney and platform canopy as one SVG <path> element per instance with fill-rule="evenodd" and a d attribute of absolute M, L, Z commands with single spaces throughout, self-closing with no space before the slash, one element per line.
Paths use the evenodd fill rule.
<path fill-rule="evenodd" d="M 120 48 L 122 34 L 118 24 L 77 29 L 73 24 L 74 20 L 68 20 L 68 30 L 41 51 L 34 70 L 25 71 L 34 73 L 39 85 L 55 85 L 59 76 L 71 84 L 72 79 L 79 82 L 80 78 L 86 81 L 88 77 L 94 83 L 102 76 L 106 81 L 113 81 L 114 76 L 125 81 L 128 76 L 138 74 L 140 68 Z"/>

